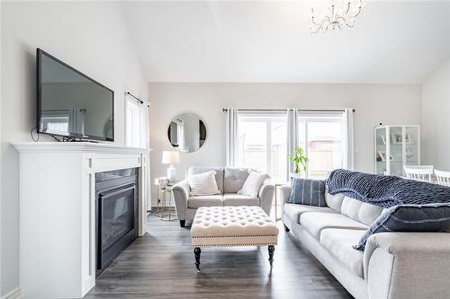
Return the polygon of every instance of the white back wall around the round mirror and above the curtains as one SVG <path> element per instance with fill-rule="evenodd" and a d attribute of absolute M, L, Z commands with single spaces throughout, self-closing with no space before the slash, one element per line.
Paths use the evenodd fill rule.
<path fill-rule="evenodd" d="M 374 127 L 419 124 L 420 85 L 389 84 L 169 84 L 150 83 L 152 179 L 166 175 L 161 152 L 170 120 L 193 112 L 205 120 L 206 142 L 192 154 L 181 154 L 177 179 L 191 165 L 225 164 L 225 113 L 222 108 L 355 108 L 356 169 L 374 171 Z M 155 192 L 155 191 L 154 191 Z M 155 204 L 155 198 L 153 201 Z"/>

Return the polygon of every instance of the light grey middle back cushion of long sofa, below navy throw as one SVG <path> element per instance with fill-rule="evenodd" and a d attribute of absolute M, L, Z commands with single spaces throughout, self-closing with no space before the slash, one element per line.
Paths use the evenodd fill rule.
<path fill-rule="evenodd" d="M 357 200 L 345 197 L 342 201 L 342 214 L 366 225 L 372 225 L 379 215 L 382 215 L 383 207 L 374 206 Z"/>

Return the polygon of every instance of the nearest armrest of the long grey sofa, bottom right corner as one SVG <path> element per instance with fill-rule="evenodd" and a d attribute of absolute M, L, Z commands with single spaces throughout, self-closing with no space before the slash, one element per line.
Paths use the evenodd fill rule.
<path fill-rule="evenodd" d="M 450 233 L 376 233 L 364 268 L 370 298 L 450 298 Z"/>

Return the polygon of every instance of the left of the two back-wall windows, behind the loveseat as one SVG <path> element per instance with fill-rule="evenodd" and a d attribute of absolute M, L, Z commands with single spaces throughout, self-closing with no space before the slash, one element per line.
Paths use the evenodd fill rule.
<path fill-rule="evenodd" d="M 273 180 L 287 179 L 285 112 L 238 114 L 238 165 L 266 171 Z"/>

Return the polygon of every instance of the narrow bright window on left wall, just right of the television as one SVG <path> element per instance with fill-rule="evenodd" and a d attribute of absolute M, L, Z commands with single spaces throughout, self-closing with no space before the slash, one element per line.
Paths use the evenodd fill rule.
<path fill-rule="evenodd" d="M 137 101 L 125 101 L 125 142 L 135 147 L 147 146 L 147 113 Z"/>

